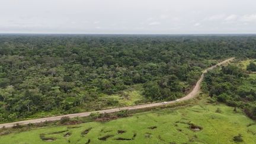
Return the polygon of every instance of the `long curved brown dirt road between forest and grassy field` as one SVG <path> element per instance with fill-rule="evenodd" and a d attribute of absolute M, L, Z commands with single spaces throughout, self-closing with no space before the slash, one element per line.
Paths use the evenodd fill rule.
<path fill-rule="evenodd" d="M 200 91 L 200 84 L 201 81 L 203 81 L 204 78 L 204 73 L 206 73 L 207 71 L 209 71 L 210 69 L 215 68 L 216 66 L 220 66 L 223 65 L 225 63 L 230 62 L 231 60 L 233 60 L 235 57 L 232 57 L 230 59 L 226 59 L 220 63 L 217 63 L 217 65 L 211 66 L 210 68 L 207 68 L 206 70 L 203 71 L 199 81 L 197 81 L 196 86 L 193 88 L 193 90 L 187 94 L 185 97 L 180 98 L 180 101 L 185 101 L 185 100 L 189 100 L 193 97 L 196 97 L 196 95 L 199 93 Z M 172 103 L 177 103 L 178 101 L 168 101 L 166 104 L 172 104 Z M 89 116 L 91 113 L 113 113 L 116 111 L 120 111 L 120 110 L 136 110 L 136 109 L 140 109 L 140 108 L 148 108 L 148 107 L 156 107 L 156 106 L 160 106 L 163 105 L 163 103 L 152 103 L 152 104 L 143 104 L 143 105 L 133 105 L 133 106 L 129 106 L 129 107 L 120 107 L 120 108 L 112 108 L 112 109 L 108 109 L 108 110 L 99 110 L 99 111 L 90 111 L 90 112 L 85 112 L 85 113 L 75 113 L 75 114 L 66 114 L 66 115 L 62 115 L 62 116 L 55 116 L 55 117 L 46 117 L 46 118 L 41 118 L 41 119 L 34 119 L 34 120 L 24 120 L 24 121 L 17 121 L 14 123 L 5 123 L 5 124 L 0 124 L 0 128 L 1 127 L 12 127 L 14 126 L 14 124 L 29 124 L 29 123 L 40 123 L 43 121 L 54 121 L 54 120 L 60 120 L 62 117 L 86 117 Z"/>

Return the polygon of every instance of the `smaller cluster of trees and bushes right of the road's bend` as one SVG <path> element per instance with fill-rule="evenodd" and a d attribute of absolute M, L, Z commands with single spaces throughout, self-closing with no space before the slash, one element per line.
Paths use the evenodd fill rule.
<path fill-rule="evenodd" d="M 247 69 L 254 68 L 251 62 Z M 206 73 L 203 89 L 209 92 L 210 101 L 226 103 L 242 108 L 247 116 L 256 120 L 256 75 L 250 74 L 234 64 Z"/>

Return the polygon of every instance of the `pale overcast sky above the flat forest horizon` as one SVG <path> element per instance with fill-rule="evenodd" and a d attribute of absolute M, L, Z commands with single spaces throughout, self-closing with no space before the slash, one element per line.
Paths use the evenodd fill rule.
<path fill-rule="evenodd" d="M 255 34 L 255 0 L 0 0 L 0 33 Z"/>

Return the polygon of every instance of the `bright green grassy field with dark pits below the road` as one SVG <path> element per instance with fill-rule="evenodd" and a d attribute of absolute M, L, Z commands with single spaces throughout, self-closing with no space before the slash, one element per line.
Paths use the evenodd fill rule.
<path fill-rule="evenodd" d="M 217 108 L 221 113 L 216 113 Z M 202 129 L 191 130 L 191 123 Z M 233 136 L 239 133 L 243 143 L 256 142 L 255 121 L 248 119 L 241 111 L 233 112 L 232 107 L 223 104 L 199 103 L 192 107 L 152 110 L 106 123 L 89 122 L 74 125 L 72 129 L 70 127 L 43 127 L 11 133 L 0 136 L 0 143 L 46 143 L 40 139 L 40 135 L 56 139 L 47 143 L 87 143 L 88 140 L 90 143 L 235 143 Z M 89 128 L 92 129 L 82 136 L 81 133 Z M 125 132 L 118 133 L 118 130 Z M 64 137 L 68 132 L 71 135 Z M 107 140 L 98 139 L 104 136 L 111 137 Z M 116 140 L 120 137 L 130 140 Z"/>

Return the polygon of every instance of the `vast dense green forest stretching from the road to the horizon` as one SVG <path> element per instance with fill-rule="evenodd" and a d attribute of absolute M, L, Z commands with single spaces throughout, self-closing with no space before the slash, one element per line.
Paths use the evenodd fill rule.
<path fill-rule="evenodd" d="M 175 100 L 232 56 L 255 58 L 256 36 L 0 35 L 0 121 L 118 106 L 132 87 Z"/>

